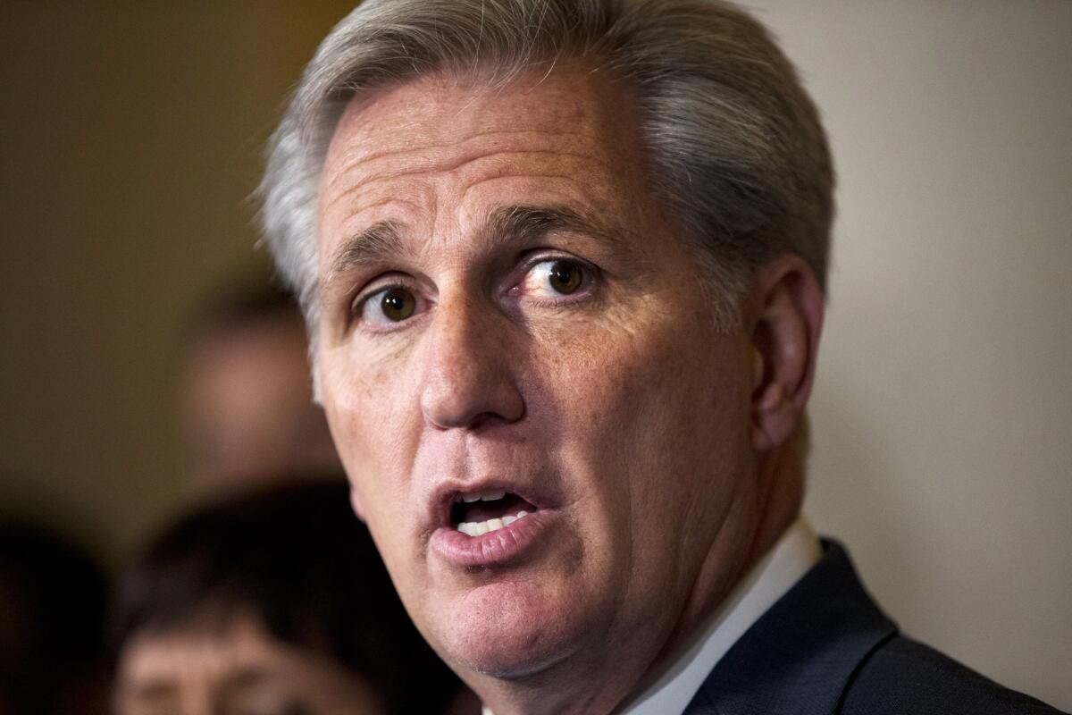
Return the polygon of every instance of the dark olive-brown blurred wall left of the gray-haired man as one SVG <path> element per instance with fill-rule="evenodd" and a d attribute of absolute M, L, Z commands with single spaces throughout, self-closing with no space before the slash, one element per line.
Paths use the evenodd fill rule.
<path fill-rule="evenodd" d="M 113 561 L 182 495 L 178 328 L 338 0 L 0 3 L 0 512 Z"/>

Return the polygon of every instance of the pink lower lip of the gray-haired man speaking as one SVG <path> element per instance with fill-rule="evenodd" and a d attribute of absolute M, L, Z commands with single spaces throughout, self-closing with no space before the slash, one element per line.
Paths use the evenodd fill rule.
<path fill-rule="evenodd" d="M 467 536 L 452 526 L 441 526 L 429 547 L 447 563 L 461 568 L 506 566 L 530 555 L 547 538 L 557 512 L 540 509 L 518 519 L 509 526 L 480 536 Z"/>

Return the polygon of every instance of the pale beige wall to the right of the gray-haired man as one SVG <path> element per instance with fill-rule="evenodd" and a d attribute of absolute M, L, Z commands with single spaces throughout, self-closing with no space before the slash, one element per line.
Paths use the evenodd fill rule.
<path fill-rule="evenodd" d="M 807 511 L 910 635 L 1072 710 L 1072 2 L 751 2 L 840 178 Z"/>

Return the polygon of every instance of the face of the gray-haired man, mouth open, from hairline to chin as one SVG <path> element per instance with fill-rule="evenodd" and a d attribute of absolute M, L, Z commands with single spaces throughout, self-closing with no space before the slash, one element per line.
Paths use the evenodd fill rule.
<path fill-rule="evenodd" d="M 716 329 L 627 95 L 539 80 L 352 103 L 319 204 L 355 506 L 430 642 L 501 676 L 657 652 L 740 568 L 751 470 L 749 342 Z"/>

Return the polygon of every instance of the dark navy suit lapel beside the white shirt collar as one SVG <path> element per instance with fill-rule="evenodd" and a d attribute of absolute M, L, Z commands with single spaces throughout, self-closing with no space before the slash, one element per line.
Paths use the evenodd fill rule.
<path fill-rule="evenodd" d="M 896 626 L 839 545 L 741 637 L 685 715 L 829 715 L 853 673 Z"/>

